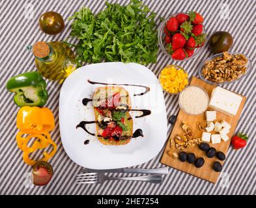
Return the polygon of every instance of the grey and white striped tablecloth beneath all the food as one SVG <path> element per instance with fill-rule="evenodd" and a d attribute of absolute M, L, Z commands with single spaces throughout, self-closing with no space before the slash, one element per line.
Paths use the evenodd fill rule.
<path fill-rule="evenodd" d="M 113 3 L 128 3 L 129 0 L 109 0 Z M 160 24 L 160 16 L 167 18 L 169 14 L 197 10 L 205 17 L 205 29 L 208 36 L 214 31 L 229 31 L 233 34 L 234 44 L 231 51 L 241 52 L 249 56 L 252 72 L 225 88 L 234 90 L 247 97 L 246 105 L 236 131 L 248 133 L 250 139 L 244 149 L 234 151 L 229 148 L 227 159 L 218 183 L 208 183 L 192 175 L 170 168 L 169 175 L 164 176 L 164 183 L 154 185 L 133 181 L 108 181 L 104 185 L 76 185 L 74 176 L 81 167 L 72 162 L 66 155 L 59 134 L 58 105 L 61 85 L 48 81 L 50 98 L 47 107 L 53 110 L 56 127 L 51 131 L 53 140 L 58 145 L 57 154 L 50 160 L 55 174 L 51 183 L 45 187 L 29 187 L 25 185 L 31 167 L 24 164 L 20 149 L 16 145 L 16 114 L 18 107 L 12 100 L 12 94 L 5 89 L 9 77 L 22 72 L 36 70 L 33 55 L 25 49 L 27 44 L 44 40 L 64 40 L 70 34 L 71 16 L 82 5 L 89 6 L 96 13 L 104 8 L 105 0 L 34 0 L 16 1 L 0 0 L 0 194 L 255 194 L 256 193 L 256 1 L 255 0 L 146 0 L 144 3 L 157 13 L 156 23 Z M 38 17 L 43 12 L 54 10 L 63 15 L 66 27 L 61 34 L 48 36 L 40 31 Z M 73 43 L 76 41 L 73 40 Z M 197 75 L 199 64 L 211 55 L 206 47 L 201 55 L 186 62 L 175 62 L 158 52 L 158 62 L 149 64 L 148 68 L 156 75 L 167 64 L 180 64 L 190 77 Z M 177 114 L 178 96 L 164 94 L 168 116 Z M 168 126 L 168 135 L 171 126 Z M 151 161 L 135 166 L 136 168 L 158 168 L 163 150 Z M 114 176 L 133 174 L 109 174 Z"/>

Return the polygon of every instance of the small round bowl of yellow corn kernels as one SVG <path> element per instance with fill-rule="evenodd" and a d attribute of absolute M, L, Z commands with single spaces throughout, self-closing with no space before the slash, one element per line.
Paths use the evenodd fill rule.
<path fill-rule="evenodd" d="M 165 66 L 158 79 L 163 90 L 169 94 L 179 94 L 188 85 L 188 73 L 177 65 Z"/>

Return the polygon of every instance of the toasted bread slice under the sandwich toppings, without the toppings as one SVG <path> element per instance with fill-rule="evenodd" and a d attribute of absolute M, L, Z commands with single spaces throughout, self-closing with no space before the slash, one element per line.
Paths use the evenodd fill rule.
<path fill-rule="evenodd" d="M 122 88 L 121 86 L 106 86 L 106 87 L 98 87 L 96 88 L 93 96 L 92 96 L 92 105 L 94 107 L 94 116 L 95 116 L 95 122 L 96 122 L 96 132 L 97 137 L 102 144 L 105 145 L 124 145 L 128 144 L 130 140 L 132 139 L 132 133 L 133 133 L 133 120 L 130 113 L 127 111 L 124 116 L 124 123 L 126 125 L 126 130 L 122 131 L 121 139 L 116 140 L 109 140 L 107 138 L 104 138 L 98 134 L 100 131 L 104 131 L 99 125 L 98 125 L 98 116 L 100 113 L 98 110 L 96 110 L 97 107 L 100 107 L 104 101 L 106 101 L 107 98 L 111 98 L 111 96 L 120 93 L 121 98 L 121 105 L 126 105 L 128 109 L 131 109 L 131 101 L 130 96 L 128 92 Z M 109 103 L 108 103 L 109 105 Z M 110 104 L 111 105 L 111 104 Z M 109 109 L 110 110 L 110 109 Z"/>

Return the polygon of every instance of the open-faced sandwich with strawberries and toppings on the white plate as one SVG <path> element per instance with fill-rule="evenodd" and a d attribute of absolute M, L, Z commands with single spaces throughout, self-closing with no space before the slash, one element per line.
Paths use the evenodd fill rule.
<path fill-rule="evenodd" d="M 92 96 L 97 137 L 102 144 L 124 145 L 130 142 L 133 132 L 131 101 L 121 86 L 96 88 Z"/>

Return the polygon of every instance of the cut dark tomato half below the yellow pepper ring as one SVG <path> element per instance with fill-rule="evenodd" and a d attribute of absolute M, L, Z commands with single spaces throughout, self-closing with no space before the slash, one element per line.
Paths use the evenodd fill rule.
<path fill-rule="evenodd" d="M 53 168 L 49 162 L 38 161 L 33 165 L 33 183 L 43 186 L 51 181 Z"/>

